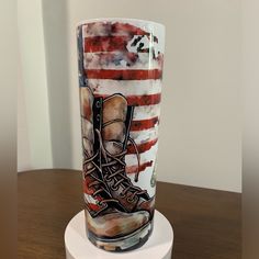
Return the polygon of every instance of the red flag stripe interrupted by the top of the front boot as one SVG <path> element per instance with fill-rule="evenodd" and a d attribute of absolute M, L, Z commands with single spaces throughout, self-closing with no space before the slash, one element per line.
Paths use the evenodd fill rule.
<path fill-rule="evenodd" d="M 95 98 L 102 97 L 103 99 L 111 97 L 105 94 L 94 94 Z M 127 104 L 131 106 L 145 106 L 155 105 L 160 103 L 161 93 L 149 94 L 149 95 L 126 95 Z"/>

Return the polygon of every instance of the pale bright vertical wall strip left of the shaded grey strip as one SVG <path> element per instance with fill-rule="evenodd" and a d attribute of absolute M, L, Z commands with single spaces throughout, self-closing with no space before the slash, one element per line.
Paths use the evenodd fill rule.
<path fill-rule="evenodd" d="M 18 0 L 22 80 L 31 167 L 52 168 L 52 138 L 41 0 Z"/>

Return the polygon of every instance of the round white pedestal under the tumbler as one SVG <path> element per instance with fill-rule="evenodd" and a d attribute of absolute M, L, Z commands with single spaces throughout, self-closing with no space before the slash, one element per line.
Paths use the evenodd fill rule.
<path fill-rule="evenodd" d="M 93 246 L 87 238 L 83 211 L 68 223 L 65 230 L 67 259 L 170 259 L 172 244 L 172 227 L 158 211 L 155 211 L 151 236 L 144 246 L 132 251 L 110 252 Z"/>

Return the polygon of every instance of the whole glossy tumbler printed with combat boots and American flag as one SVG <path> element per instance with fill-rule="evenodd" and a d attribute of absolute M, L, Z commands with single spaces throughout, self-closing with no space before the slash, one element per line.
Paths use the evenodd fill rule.
<path fill-rule="evenodd" d="M 135 249 L 153 230 L 165 27 L 89 20 L 77 40 L 87 234 Z"/>

